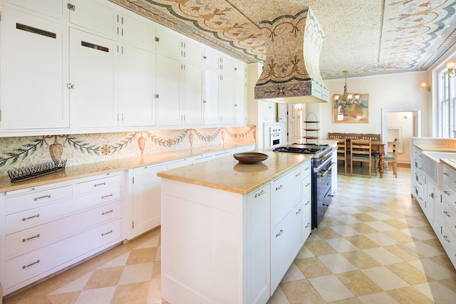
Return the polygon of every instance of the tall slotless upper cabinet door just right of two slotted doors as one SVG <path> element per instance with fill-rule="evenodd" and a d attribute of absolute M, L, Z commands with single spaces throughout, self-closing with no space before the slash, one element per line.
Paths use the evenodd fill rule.
<path fill-rule="evenodd" d="M 124 45 L 120 56 L 123 125 L 155 125 L 155 55 L 143 48 Z"/>

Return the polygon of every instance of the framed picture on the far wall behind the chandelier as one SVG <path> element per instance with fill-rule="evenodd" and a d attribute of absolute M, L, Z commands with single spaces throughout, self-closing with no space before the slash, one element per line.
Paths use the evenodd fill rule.
<path fill-rule="evenodd" d="M 334 96 L 333 100 L 335 100 Z M 333 101 L 333 122 L 368 123 L 369 94 L 360 94 L 359 99 L 351 105 L 338 105 L 335 101 Z"/>

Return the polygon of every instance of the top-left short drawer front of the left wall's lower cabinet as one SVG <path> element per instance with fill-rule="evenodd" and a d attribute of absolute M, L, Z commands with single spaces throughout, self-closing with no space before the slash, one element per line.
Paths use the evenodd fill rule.
<path fill-rule="evenodd" d="M 51 204 L 59 199 L 66 199 L 73 195 L 73 186 L 63 186 L 43 191 L 32 192 L 5 199 L 6 214 L 22 211 L 24 209 L 36 208 L 45 204 Z"/>

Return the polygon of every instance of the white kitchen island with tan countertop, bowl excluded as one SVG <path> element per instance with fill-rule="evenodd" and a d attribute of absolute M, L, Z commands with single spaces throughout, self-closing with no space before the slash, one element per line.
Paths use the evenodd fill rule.
<path fill-rule="evenodd" d="M 264 152 L 159 172 L 162 298 L 266 303 L 311 232 L 311 156 Z"/>

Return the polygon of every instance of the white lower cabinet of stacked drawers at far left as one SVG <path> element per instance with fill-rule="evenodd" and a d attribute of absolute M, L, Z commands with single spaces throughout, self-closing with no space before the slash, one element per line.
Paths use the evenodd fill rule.
<path fill-rule="evenodd" d="M 1 193 L 4 294 L 123 240 L 122 172 Z"/>

